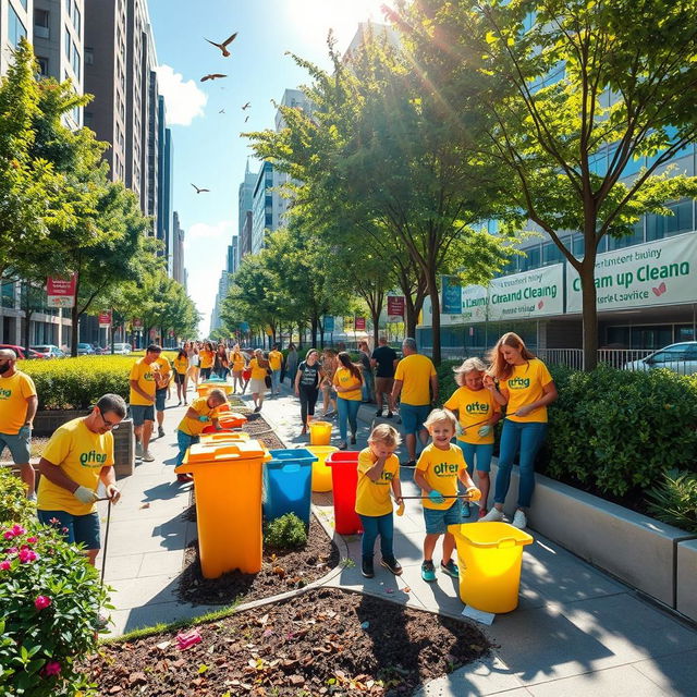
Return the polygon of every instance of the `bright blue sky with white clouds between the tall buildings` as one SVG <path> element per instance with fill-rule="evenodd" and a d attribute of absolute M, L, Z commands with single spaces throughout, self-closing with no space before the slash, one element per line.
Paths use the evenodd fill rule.
<path fill-rule="evenodd" d="M 220 272 L 237 231 L 237 186 L 250 154 L 243 131 L 273 127 L 286 87 L 307 82 L 286 51 L 327 68 L 327 33 L 345 50 L 358 22 L 382 21 L 384 0 L 149 0 L 160 89 L 174 143 L 174 210 L 186 231 L 188 292 L 210 327 Z M 388 2 L 388 4 L 391 4 Z M 230 58 L 204 40 L 233 32 Z M 207 73 L 224 80 L 200 83 Z M 245 102 L 252 102 L 247 112 Z M 224 113 L 219 113 L 224 109 Z M 245 115 L 249 121 L 245 124 Z M 250 160 L 255 170 L 258 163 Z M 191 183 L 210 188 L 196 194 Z"/>

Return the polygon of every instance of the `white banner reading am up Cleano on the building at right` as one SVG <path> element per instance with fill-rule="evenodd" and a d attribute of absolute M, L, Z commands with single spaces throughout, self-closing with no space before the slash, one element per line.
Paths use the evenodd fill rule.
<path fill-rule="evenodd" d="M 598 310 L 697 302 L 697 234 L 687 232 L 624 249 L 596 261 Z M 580 313 L 580 279 L 566 273 L 566 311 Z"/>

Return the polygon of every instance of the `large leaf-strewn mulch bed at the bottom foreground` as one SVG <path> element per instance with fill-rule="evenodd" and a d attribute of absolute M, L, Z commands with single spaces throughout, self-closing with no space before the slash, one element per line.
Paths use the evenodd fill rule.
<path fill-rule="evenodd" d="M 396 697 L 490 648 L 468 622 L 328 588 L 197 629 L 184 650 L 172 632 L 103 645 L 87 667 L 99 694 Z"/>

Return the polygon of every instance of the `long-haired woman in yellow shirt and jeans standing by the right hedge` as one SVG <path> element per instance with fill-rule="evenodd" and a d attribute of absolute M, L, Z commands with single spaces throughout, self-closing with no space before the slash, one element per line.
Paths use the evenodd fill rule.
<path fill-rule="evenodd" d="M 499 339 L 490 359 L 491 367 L 484 384 L 493 399 L 506 407 L 506 414 L 501 431 L 493 509 L 481 519 L 503 519 L 511 467 L 519 450 L 521 484 L 512 524 L 523 529 L 527 525 L 525 509 L 529 508 L 535 490 L 535 457 L 547 435 L 547 407 L 558 396 L 557 387 L 547 366 L 513 332 Z"/>

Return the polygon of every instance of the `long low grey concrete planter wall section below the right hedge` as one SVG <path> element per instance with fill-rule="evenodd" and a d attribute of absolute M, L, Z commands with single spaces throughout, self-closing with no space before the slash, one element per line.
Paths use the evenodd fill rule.
<path fill-rule="evenodd" d="M 492 489 L 497 467 L 492 466 Z M 626 584 L 676 608 L 674 557 L 693 536 L 542 475 L 528 513 L 529 526 Z M 513 515 L 518 468 L 513 467 L 504 511 Z M 697 559 L 697 555 L 696 555 Z M 695 567 L 697 570 L 697 561 Z M 693 576 L 694 578 L 695 576 Z"/>

